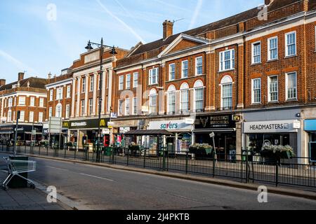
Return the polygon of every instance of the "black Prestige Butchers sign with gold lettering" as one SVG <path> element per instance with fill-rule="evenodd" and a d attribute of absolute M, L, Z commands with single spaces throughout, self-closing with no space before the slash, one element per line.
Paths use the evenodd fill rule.
<path fill-rule="evenodd" d="M 201 116 L 195 120 L 195 129 L 235 128 L 232 114 L 223 116 Z"/>

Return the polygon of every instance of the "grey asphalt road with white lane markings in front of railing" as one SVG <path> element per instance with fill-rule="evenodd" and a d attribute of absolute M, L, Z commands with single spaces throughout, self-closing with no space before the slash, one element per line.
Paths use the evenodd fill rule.
<path fill-rule="evenodd" d="M 1 156 L 7 156 L 1 154 Z M 32 159 L 30 178 L 88 209 L 316 209 L 316 201 L 72 162 Z M 4 165 L 0 162 L 0 167 Z"/>

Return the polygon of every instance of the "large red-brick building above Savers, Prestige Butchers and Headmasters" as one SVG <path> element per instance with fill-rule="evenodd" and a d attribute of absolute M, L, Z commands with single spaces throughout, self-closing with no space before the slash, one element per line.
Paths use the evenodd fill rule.
<path fill-rule="evenodd" d="M 225 156 L 263 144 L 289 144 L 309 156 L 315 10 L 315 0 L 270 0 L 175 35 L 165 21 L 162 39 L 138 43 L 117 62 L 114 133 L 167 129 L 175 133 L 167 143 L 181 153 L 195 142 L 212 144 L 214 132 Z M 158 140 L 138 141 L 150 148 Z"/>

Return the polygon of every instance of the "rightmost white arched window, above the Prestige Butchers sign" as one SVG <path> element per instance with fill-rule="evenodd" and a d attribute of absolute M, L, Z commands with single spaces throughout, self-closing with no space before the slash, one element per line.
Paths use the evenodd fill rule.
<path fill-rule="evenodd" d="M 223 110 L 232 109 L 232 78 L 224 76 L 220 81 L 221 85 L 221 107 Z"/>

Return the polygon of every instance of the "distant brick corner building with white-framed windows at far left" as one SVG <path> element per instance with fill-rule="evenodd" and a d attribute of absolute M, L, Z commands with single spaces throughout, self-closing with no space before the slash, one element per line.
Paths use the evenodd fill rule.
<path fill-rule="evenodd" d="M 24 73 L 18 73 L 18 81 L 9 84 L 6 84 L 6 80 L 0 80 L 2 140 L 13 139 L 17 111 L 20 111 L 18 140 L 30 141 L 32 137 L 41 140 L 43 122 L 46 118 L 47 80 L 24 76 Z M 32 135 L 32 130 L 36 131 L 36 135 Z"/>

